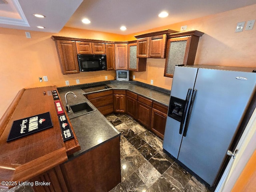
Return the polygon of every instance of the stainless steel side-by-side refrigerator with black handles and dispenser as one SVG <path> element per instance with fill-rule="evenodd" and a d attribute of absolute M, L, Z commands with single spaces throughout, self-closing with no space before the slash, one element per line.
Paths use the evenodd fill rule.
<path fill-rule="evenodd" d="M 255 84 L 252 72 L 176 66 L 164 150 L 214 186 Z"/>

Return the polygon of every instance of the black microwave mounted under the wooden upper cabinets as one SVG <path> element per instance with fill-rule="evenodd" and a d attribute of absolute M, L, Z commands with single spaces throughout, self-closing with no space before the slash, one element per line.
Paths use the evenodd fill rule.
<path fill-rule="evenodd" d="M 80 71 L 107 70 L 106 55 L 78 54 Z"/>

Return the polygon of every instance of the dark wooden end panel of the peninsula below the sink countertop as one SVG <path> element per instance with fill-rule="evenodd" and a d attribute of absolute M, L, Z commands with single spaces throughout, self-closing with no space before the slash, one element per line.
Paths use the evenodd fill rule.
<path fill-rule="evenodd" d="M 108 192 L 121 182 L 120 136 L 60 164 L 29 182 L 35 192 Z"/>

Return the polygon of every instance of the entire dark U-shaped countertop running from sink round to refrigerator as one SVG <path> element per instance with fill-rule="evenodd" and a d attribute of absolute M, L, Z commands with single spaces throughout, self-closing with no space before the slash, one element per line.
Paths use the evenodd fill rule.
<path fill-rule="evenodd" d="M 97 147 L 108 140 L 115 138 L 120 135 L 120 132 L 110 123 L 108 120 L 90 103 L 89 100 L 86 99 L 84 94 L 90 94 L 94 92 L 101 92 L 102 90 L 95 91 L 91 89 L 92 86 L 106 84 L 111 87 L 111 89 L 124 89 L 134 92 L 138 95 L 149 98 L 153 101 L 159 102 L 165 106 L 169 105 L 170 100 L 170 91 L 164 90 L 164 92 L 159 91 L 161 88 L 157 88 L 154 86 L 146 87 L 141 83 L 128 81 L 128 82 L 118 82 L 118 81 L 107 81 L 107 82 L 97 82 L 92 84 L 83 84 L 78 86 L 70 86 L 58 88 L 59 96 L 65 106 L 65 94 L 68 91 L 74 92 L 76 94 L 76 98 L 72 94 L 67 95 L 68 104 L 77 104 L 80 102 L 88 102 L 88 104 L 94 109 L 94 111 L 89 112 L 88 114 L 75 116 L 75 114 L 71 111 L 68 113 L 68 117 L 70 118 L 70 122 L 73 126 L 74 132 L 78 138 L 78 142 L 81 146 L 81 150 L 74 153 L 74 156 L 79 154 L 88 152 L 89 150 Z M 90 92 L 85 92 L 82 90 L 84 87 L 90 87 L 88 90 Z M 109 89 L 104 89 L 109 90 Z"/>

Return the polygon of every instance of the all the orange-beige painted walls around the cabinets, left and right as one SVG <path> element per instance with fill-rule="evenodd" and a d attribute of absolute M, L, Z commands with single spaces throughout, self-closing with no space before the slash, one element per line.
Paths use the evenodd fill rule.
<path fill-rule="evenodd" d="M 136 34 L 167 28 L 180 31 L 180 26 L 187 25 L 187 30 L 205 33 L 199 41 L 196 64 L 256 67 L 256 26 L 253 30 L 234 32 L 237 22 L 255 18 L 256 4 Z M 75 85 L 76 79 L 81 84 L 98 82 L 105 80 L 105 76 L 108 76 L 108 80 L 114 79 L 114 71 L 62 75 L 55 43 L 50 38 L 52 35 L 109 41 L 134 40 L 136 35 L 123 36 L 73 28 L 63 28 L 58 34 L 30 33 L 32 38 L 27 39 L 24 30 L 0 28 L 0 116 L 22 88 L 65 86 L 65 80 Z M 163 76 L 164 63 L 165 59 L 148 59 L 146 72 L 132 72 L 132 75 L 135 75 L 135 80 L 150 84 L 152 79 L 154 85 L 170 89 L 172 78 Z M 40 83 L 38 77 L 42 76 L 48 76 L 49 81 Z"/>

